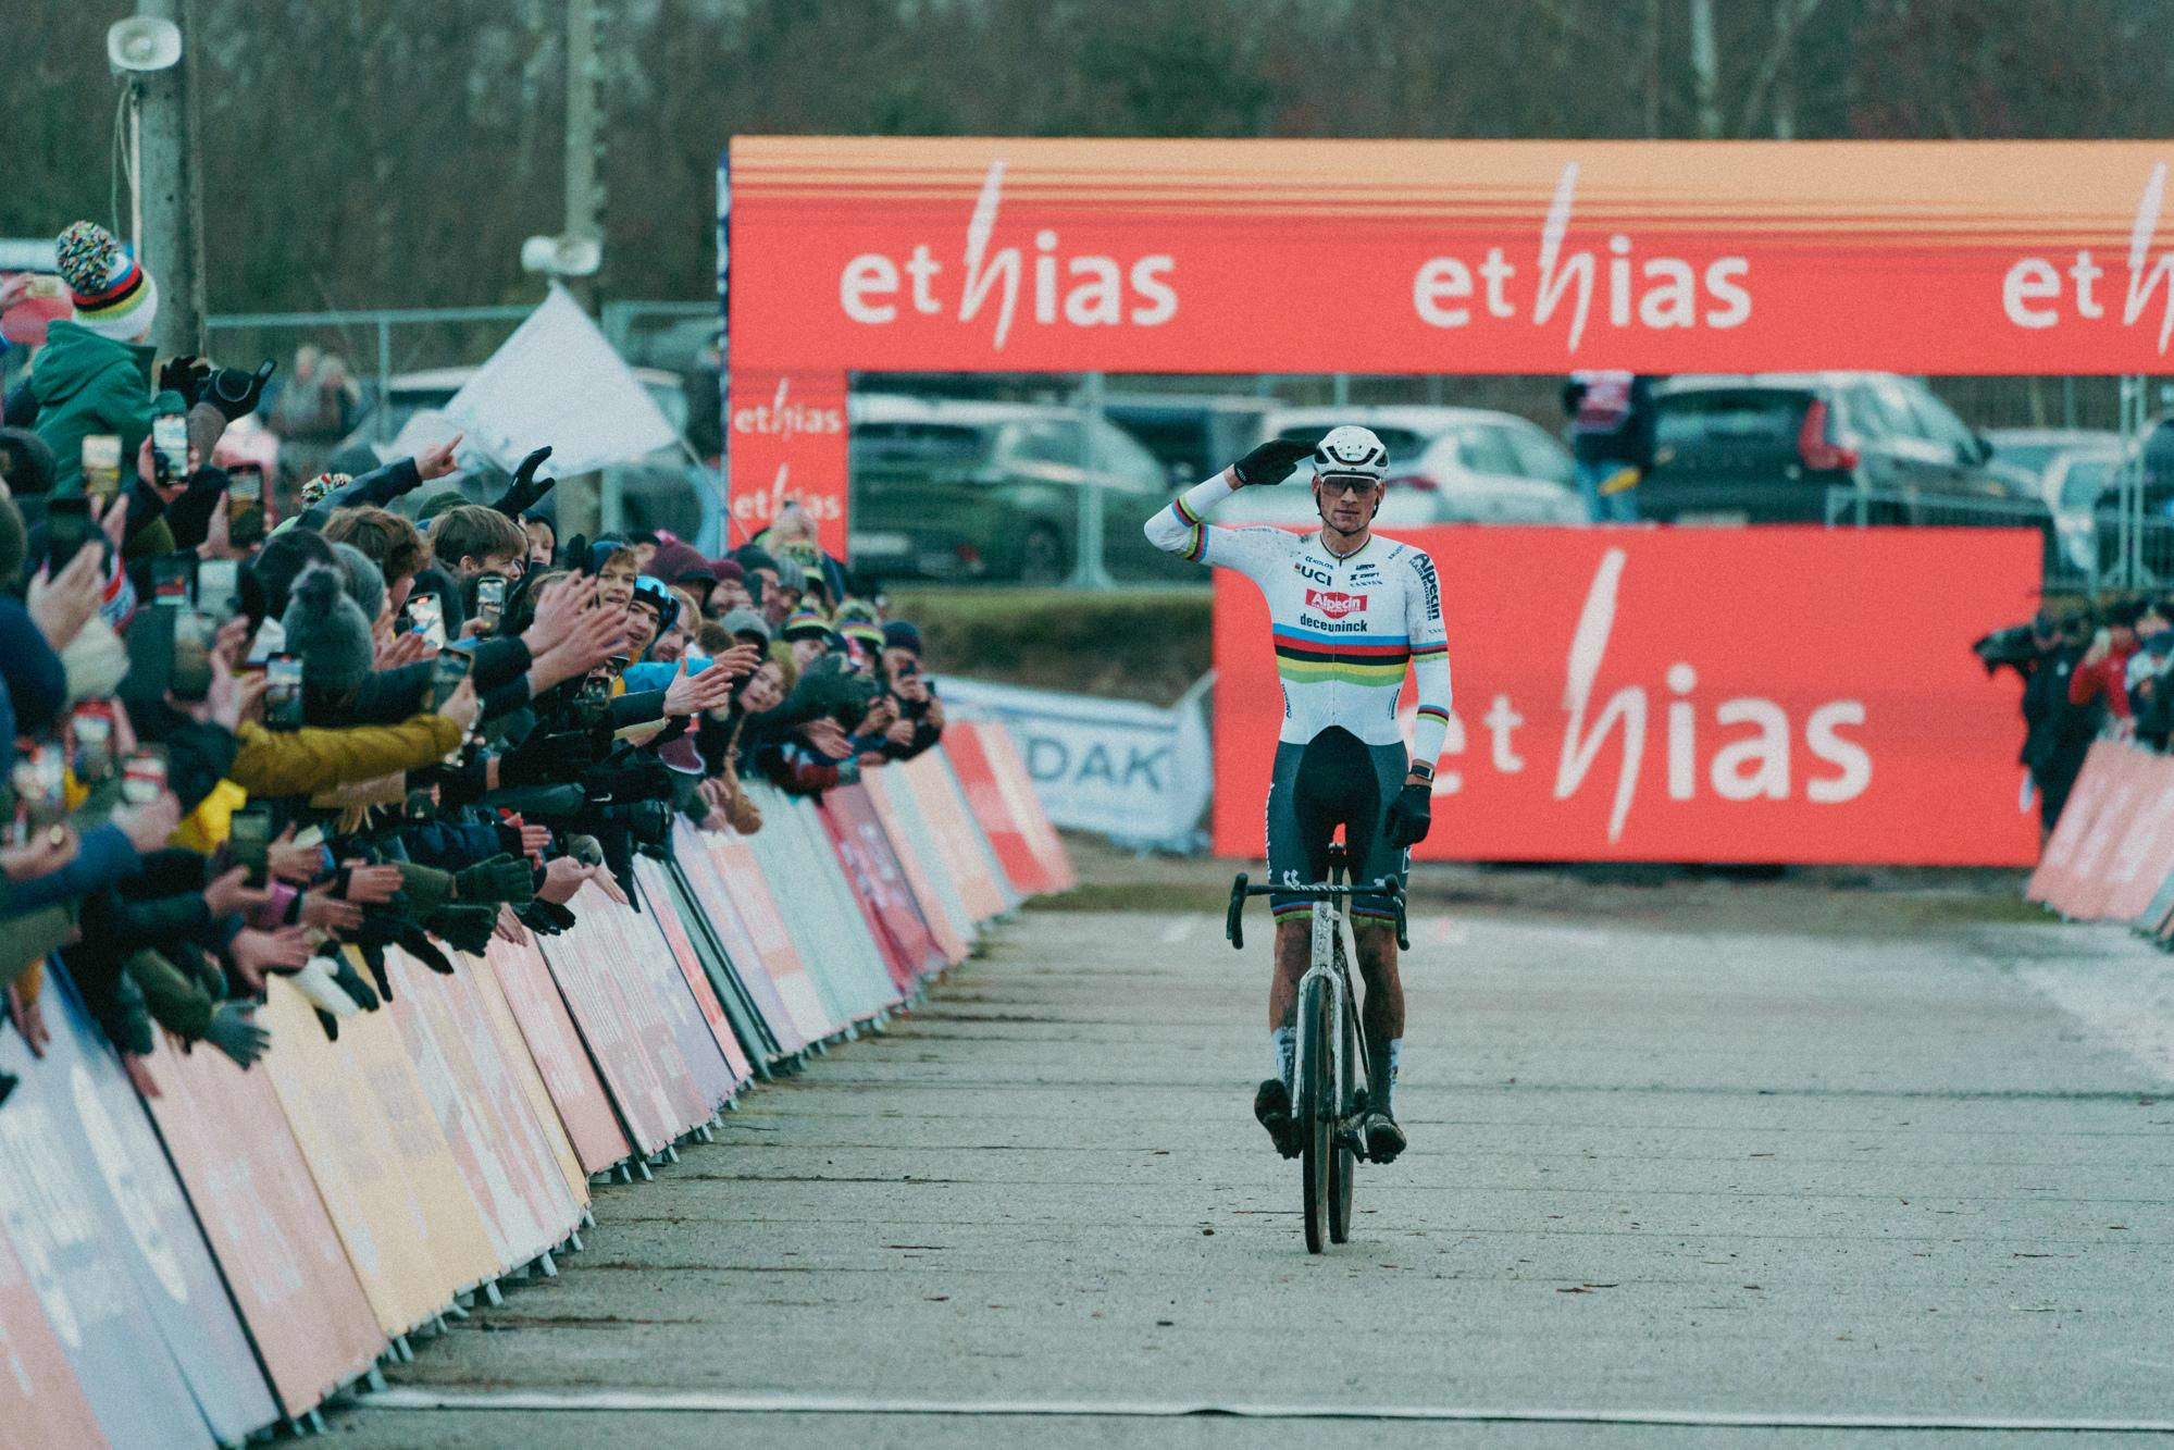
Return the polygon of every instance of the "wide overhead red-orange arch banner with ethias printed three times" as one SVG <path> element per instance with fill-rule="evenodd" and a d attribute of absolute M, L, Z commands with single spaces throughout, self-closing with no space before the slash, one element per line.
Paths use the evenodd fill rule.
<path fill-rule="evenodd" d="M 2163 372 L 2170 157 L 739 137 L 733 363 Z"/>

